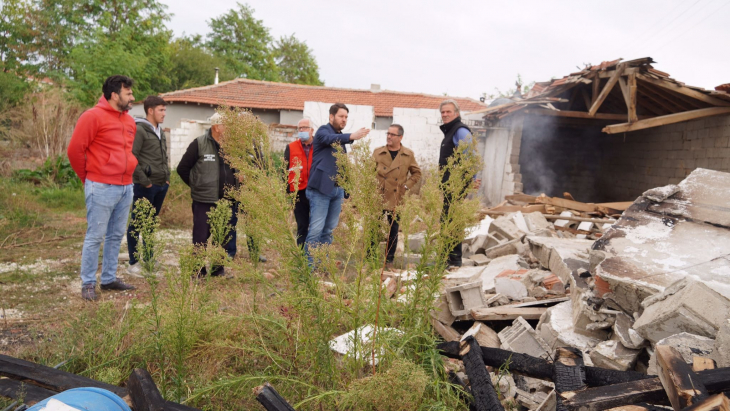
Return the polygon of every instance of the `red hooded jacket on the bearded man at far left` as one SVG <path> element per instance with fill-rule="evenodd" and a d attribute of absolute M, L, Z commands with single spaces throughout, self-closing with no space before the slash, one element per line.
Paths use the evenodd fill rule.
<path fill-rule="evenodd" d="M 137 158 L 132 144 L 137 126 L 126 111 L 119 112 L 101 96 L 76 123 L 68 144 L 68 161 L 82 182 L 132 184 Z"/>

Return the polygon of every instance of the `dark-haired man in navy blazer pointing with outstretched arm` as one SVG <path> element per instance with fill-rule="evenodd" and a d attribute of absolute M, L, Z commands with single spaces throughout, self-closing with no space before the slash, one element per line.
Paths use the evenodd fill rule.
<path fill-rule="evenodd" d="M 337 227 L 345 192 L 334 181 L 337 175 L 335 148 L 338 143 L 342 148 L 368 135 L 370 130 L 361 128 L 352 134 L 342 134 L 347 124 L 350 110 L 342 103 L 330 107 L 329 124 L 317 130 L 312 143 L 312 168 L 307 183 L 307 199 L 309 200 L 309 232 L 305 242 L 305 251 L 309 255 L 309 247 L 320 244 L 332 244 L 332 231 Z"/>

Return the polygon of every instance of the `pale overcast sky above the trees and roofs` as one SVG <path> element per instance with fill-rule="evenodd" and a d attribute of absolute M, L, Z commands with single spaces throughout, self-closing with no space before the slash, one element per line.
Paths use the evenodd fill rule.
<path fill-rule="evenodd" d="M 207 34 L 235 0 L 162 0 L 175 35 Z M 585 63 L 652 57 L 693 86 L 730 82 L 730 0 L 250 0 L 274 38 L 296 34 L 325 85 L 478 98 Z"/>

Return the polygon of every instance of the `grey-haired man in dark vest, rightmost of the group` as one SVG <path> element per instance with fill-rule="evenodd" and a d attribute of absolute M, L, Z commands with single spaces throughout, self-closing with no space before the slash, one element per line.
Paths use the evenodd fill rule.
<path fill-rule="evenodd" d="M 440 128 L 444 133 L 444 139 L 441 141 L 441 150 L 439 152 L 439 169 L 443 169 L 448 165 L 449 158 L 454 155 L 456 148 L 462 143 L 471 141 L 471 130 L 466 124 L 461 122 L 459 104 L 456 101 L 444 100 L 439 106 L 439 111 L 441 111 L 441 120 L 443 121 Z M 445 184 L 448 180 L 449 172 L 446 171 L 441 183 Z M 480 183 L 481 180 L 479 179 L 475 181 L 477 188 Z M 441 213 L 442 221 L 446 220 L 452 201 L 453 199 L 450 195 L 444 194 L 444 208 Z M 456 247 L 449 253 L 449 266 L 461 267 L 461 251 L 461 241 L 459 241 Z"/>

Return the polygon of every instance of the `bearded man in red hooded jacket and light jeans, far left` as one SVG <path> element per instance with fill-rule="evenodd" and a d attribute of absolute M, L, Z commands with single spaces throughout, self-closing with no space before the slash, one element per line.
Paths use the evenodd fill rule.
<path fill-rule="evenodd" d="M 81 297 L 96 300 L 99 248 L 104 241 L 101 265 L 102 290 L 133 290 L 117 279 L 117 259 L 127 229 L 132 204 L 132 154 L 137 130 L 132 116 L 133 80 L 111 76 L 102 86 L 99 103 L 81 115 L 68 145 L 68 160 L 84 183 L 86 237 L 81 252 Z"/>

